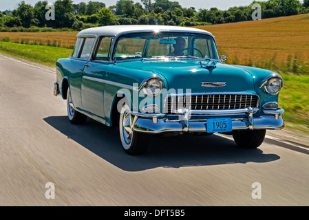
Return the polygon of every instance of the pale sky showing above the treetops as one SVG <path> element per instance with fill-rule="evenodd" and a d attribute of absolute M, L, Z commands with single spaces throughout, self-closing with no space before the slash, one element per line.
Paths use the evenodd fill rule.
<path fill-rule="evenodd" d="M 18 3 L 20 3 L 22 0 L 1 0 L 0 1 L 0 11 L 3 10 L 14 10 L 17 8 Z M 24 0 L 25 3 L 29 3 L 30 5 L 34 5 L 39 0 Z M 54 3 L 56 0 L 47 0 L 49 3 Z M 80 3 L 80 2 L 88 2 L 89 0 L 74 0 L 74 3 Z M 102 1 L 107 5 L 107 7 L 111 5 L 116 5 L 117 0 L 92 0 L 92 1 Z M 140 0 L 133 0 L 134 2 L 140 2 Z M 153 0 L 154 1 L 154 0 Z M 171 0 L 173 1 L 173 0 Z M 200 8 L 219 8 L 220 10 L 227 10 L 230 7 L 233 6 L 240 6 L 240 5 L 249 5 L 253 2 L 253 0 L 176 0 L 182 5 L 183 8 L 190 8 L 195 7 L 196 10 Z M 262 0 L 266 1 L 266 0 Z M 302 2 L 302 1 L 301 1 Z"/>

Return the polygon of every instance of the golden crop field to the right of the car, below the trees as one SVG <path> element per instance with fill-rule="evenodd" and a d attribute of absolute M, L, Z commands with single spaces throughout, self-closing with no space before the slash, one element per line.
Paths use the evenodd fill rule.
<path fill-rule="evenodd" d="M 199 26 L 227 63 L 309 74 L 309 14 Z"/>

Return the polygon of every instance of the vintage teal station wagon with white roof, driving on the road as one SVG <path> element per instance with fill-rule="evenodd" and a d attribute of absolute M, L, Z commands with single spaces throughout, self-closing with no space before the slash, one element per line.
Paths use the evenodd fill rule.
<path fill-rule="evenodd" d="M 57 61 L 54 95 L 67 100 L 73 124 L 89 117 L 119 127 L 130 155 L 145 153 L 156 134 L 218 132 L 257 148 L 266 129 L 284 128 L 283 80 L 225 60 L 213 34 L 196 28 L 89 28 L 77 34 L 72 56 Z"/>

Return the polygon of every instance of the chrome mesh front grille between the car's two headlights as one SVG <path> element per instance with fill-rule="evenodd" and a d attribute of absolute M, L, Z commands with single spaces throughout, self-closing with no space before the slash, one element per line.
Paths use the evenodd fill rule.
<path fill-rule="evenodd" d="M 258 107 L 259 97 L 254 94 L 198 94 L 191 96 L 169 96 L 164 102 L 166 113 L 179 109 L 233 110 Z"/>

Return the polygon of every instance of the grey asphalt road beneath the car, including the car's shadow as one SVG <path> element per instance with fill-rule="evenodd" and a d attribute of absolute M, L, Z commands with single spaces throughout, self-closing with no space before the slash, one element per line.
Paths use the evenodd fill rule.
<path fill-rule="evenodd" d="M 126 155 L 116 129 L 70 124 L 55 78 L 0 54 L 0 206 L 309 205 L 306 146 L 267 138 L 245 150 L 225 135 L 183 135 Z"/>

